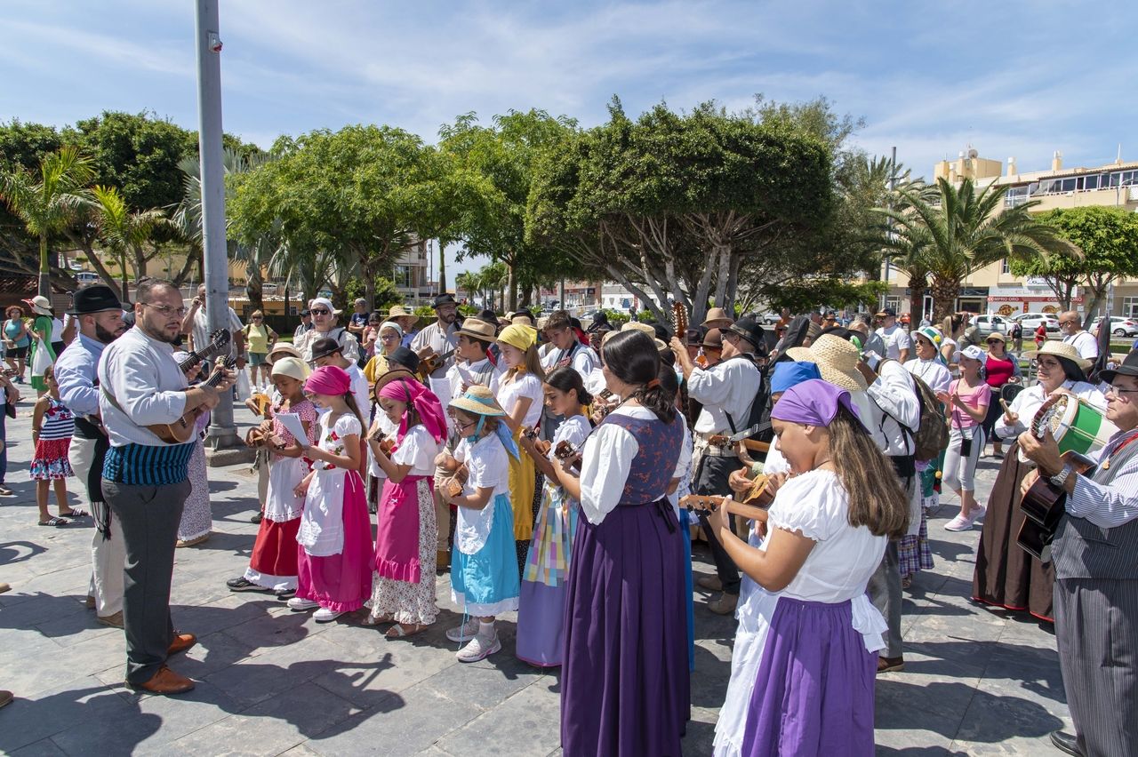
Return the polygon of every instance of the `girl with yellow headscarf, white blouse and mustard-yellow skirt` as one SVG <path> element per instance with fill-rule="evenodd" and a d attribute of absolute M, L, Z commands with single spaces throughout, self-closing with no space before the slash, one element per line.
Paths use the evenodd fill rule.
<path fill-rule="evenodd" d="M 542 382 L 545 371 L 537 353 L 537 330 L 513 323 L 497 338 L 501 350 L 500 365 L 504 373 L 498 378 L 497 402 L 505 410 L 502 422 L 513 436 L 514 447 L 523 427 L 533 429 L 542 417 L 545 394 Z M 541 508 L 542 484 L 528 456 L 510 459 L 510 497 L 513 504 L 513 539 L 518 573 L 526 566 L 529 540 L 534 535 L 534 519 Z"/>

